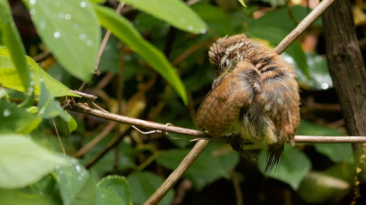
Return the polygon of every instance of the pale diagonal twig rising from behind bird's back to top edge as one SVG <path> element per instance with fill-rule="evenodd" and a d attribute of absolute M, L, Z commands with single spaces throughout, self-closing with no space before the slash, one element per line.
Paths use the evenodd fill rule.
<path fill-rule="evenodd" d="M 334 0 L 321 1 L 320 4 L 315 7 L 314 10 L 311 11 L 309 15 L 307 15 L 305 19 L 303 19 L 299 25 L 296 26 L 296 28 L 291 31 L 291 33 L 288 34 L 273 51 L 275 51 L 277 54 L 283 53 L 283 51 L 287 49 L 287 47 L 290 46 L 292 42 L 294 42 L 294 40 L 299 38 L 300 34 L 302 34 L 302 32 L 305 31 L 307 27 L 309 27 L 317 18 L 319 18 L 319 16 L 326 8 L 329 7 L 330 4 L 333 3 L 333 1 Z"/>

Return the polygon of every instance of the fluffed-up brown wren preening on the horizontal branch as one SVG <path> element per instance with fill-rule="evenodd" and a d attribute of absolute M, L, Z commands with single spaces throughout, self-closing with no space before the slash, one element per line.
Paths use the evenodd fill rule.
<path fill-rule="evenodd" d="M 212 90 L 197 113 L 197 127 L 225 135 L 235 124 L 244 140 L 268 145 L 265 171 L 283 159 L 284 144 L 299 127 L 299 86 L 294 68 L 244 34 L 220 38 L 210 47 Z"/>

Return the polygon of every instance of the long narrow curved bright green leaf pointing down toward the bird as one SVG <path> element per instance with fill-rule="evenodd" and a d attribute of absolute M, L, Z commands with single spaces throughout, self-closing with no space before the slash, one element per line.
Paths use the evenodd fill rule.
<path fill-rule="evenodd" d="M 141 55 L 179 93 L 184 104 L 188 103 L 186 89 L 165 55 L 136 31 L 132 24 L 112 9 L 95 4 L 94 9 L 101 25 Z"/>

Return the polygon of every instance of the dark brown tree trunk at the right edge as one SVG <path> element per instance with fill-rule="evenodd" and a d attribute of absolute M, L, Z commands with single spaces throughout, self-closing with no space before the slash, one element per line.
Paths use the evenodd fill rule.
<path fill-rule="evenodd" d="M 349 0 L 336 0 L 323 16 L 326 54 L 347 132 L 366 136 L 366 70 L 355 34 Z M 366 198 L 366 144 L 352 144 L 357 177 Z"/>

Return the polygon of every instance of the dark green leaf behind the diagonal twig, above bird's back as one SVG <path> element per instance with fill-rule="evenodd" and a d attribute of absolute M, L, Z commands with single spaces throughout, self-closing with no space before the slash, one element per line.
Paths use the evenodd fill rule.
<path fill-rule="evenodd" d="M 270 32 L 268 32 L 270 31 Z M 286 36 L 287 33 L 281 30 L 278 27 L 272 26 L 255 26 L 249 27 L 249 34 L 253 35 L 256 38 L 268 40 L 272 46 L 277 46 Z M 309 70 L 307 67 L 306 56 L 304 51 L 301 48 L 301 45 L 298 41 L 294 41 L 286 50 L 285 53 L 290 55 L 296 64 L 299 66 L 302 73 L 310 78 Z M 289 62 L 292 64 L 291 62 Z"/>

